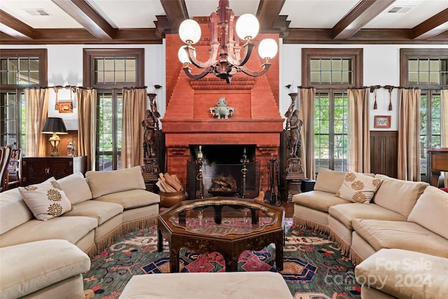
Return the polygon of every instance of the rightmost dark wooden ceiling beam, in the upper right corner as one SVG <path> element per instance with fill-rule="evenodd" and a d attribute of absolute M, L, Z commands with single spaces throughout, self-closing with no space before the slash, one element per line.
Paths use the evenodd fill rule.
<path fill-rule="evenodd" d="M 448 8 L 412 28 L 412 39 L 430 39 L 448 30 Z"/>

